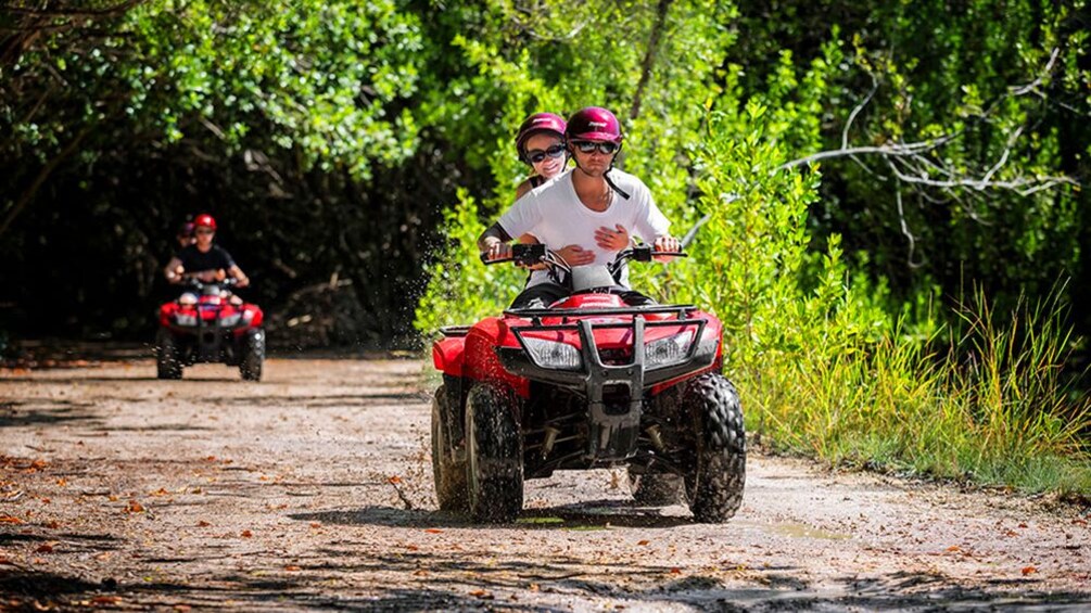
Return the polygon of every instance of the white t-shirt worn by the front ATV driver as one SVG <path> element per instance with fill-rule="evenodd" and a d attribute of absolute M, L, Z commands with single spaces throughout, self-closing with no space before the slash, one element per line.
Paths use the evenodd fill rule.
<path fill-rule="evenodd" d="M 610 180 L 630 197 L 626 200 L 611 190 L 610 206 L 601 213 L 587 208 L 579 201 L 568 170 L 517 200 L 500 217 L 500 227 L 513 238 L 529 232 L 553 251 L 578 244 L 595 252 L 592 264 L 609 264 L 618 255 L 618 251 L 606 251 L 595 242 L 595 231 L 602 226 L 612 230 L 620 224 L 630 236 L 640 237 L 648 243 L 667 236 L 670 221 L 656 206 L 643 181 L 616 168 L 610 171 Z M 548 280 L 548 271 L 535 271 L 527 287 Z M 627 271 L 622 283 L 628 283 Z"/>

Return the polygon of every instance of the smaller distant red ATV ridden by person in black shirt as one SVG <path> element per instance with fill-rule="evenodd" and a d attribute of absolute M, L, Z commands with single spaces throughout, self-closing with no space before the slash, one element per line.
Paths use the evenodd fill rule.
<path fill-rule="evenodd" d="M 235 279 L 188 279 L 178 300 L 159 306 L 156 366 L 159 378 L 182 378 L 197 362 L 239 366 L 242 378 L 260 381 L 265 361 L 262 310 L 230 292 Z"/>

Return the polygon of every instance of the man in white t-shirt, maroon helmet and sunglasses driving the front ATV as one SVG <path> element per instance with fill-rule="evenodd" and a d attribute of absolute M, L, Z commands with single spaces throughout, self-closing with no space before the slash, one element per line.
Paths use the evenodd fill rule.
<path fill-rule="evenodd" d="M 585 108 L 568 120 L 567 146 L 576 167 L 531 190 L 478 239 L 490 260 L 511 256 L 508 241 L 531 233 L 572 266 L 609 264 L 630 245 L 633 235 L 657 251 L 679 251 L 668 233 L 670 221 L 660 213 L 647 185 L 613 168 L 621 151 L 621 124 L 607 109 Z M 627 271 L 619 293 L 632 305 L 655 303 L 628 289 Z M 548 271 L 533 271 L 512 308 L 548 306 L 568 295 Z"/>

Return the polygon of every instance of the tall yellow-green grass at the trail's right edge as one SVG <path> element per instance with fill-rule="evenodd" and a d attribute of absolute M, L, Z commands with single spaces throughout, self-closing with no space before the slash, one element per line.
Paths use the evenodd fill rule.
<path fill-rule="evenodd" d="M 999 324 L 976 292 L 957 313 L 928 342 L 889 334 L 741 371 L 748 425 L 832 464 L 1091 494 L 1091 402 L 1062 370 L 1071 335 L 1056 302 L 1022 301 Z"/>

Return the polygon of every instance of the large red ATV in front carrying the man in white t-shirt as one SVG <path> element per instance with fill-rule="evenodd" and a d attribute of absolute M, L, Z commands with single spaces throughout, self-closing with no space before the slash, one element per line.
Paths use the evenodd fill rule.
<path fill-rule="evenodd" d="M 441 509 L 511 521 L 524 479 L 627 466 L 638 502 L 682 481 L 695 520 L 734 515 L 746 434 L 739 395 L 720 374 L 720 322 L 693 305 L 630 306 L 616 296 L 621 266 L 652 254 L 637 247 L 611 267 L 570 268 L 544 245 L 513 245 L 504 261 L 546 263 L 572 296 L 441 330 L 432 347 L 443 372 L 432 402 Z"/>

